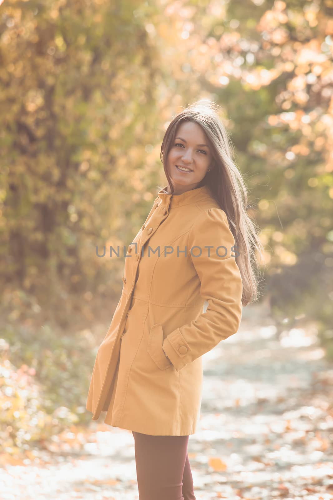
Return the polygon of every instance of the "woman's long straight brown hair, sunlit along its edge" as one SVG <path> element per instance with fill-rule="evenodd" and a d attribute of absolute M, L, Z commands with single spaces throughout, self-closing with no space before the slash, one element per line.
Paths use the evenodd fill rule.
<path fill-rule="evenodd" d="M 173 193 L 174 185 L 166 168 L 166 160 L 177 129 L 183 121 L 193 121 L 202 127 L 213 154 L 214 168 L 207 171 L 199 186 L 208 185 L 220 208 L 226 212 L 238 250 L 235 258 L 243 280 L 242 304 L 247 305 L 258 300 L 262 294 L 258 291 L 260 262 L 257 261 L 256 252 L 261 256 L 264 248 L 258 236 L 258 225 L 247 213 L 250 208 L 247 187 L 241 171 L 233 161 L 234 146 L 217 112 L 219 109 L 220 106 L 215 102 L 202 99 L 178 113 L 164 134 L 160 157 Z"/>

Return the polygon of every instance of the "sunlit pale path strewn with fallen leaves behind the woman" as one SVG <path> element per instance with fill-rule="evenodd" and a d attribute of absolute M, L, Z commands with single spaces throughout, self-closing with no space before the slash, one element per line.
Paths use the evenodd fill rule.
<path fill-rule="evenodd" d="M 274 331 L 245 308 L 240 331 L 203 357 L 188 446 L 197 500 L 333 499 L 333 364 L 310 328 Z M 91 422 L 75 438 L 77 452 L 46 465 L 0 469 L 1 500 L 138 500 L 130 431 Z"/>

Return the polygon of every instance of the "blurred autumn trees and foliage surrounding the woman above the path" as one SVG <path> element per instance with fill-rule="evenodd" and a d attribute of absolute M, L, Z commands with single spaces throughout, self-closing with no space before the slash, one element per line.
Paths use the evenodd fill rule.
<path fill-rule="evenodd" d="M 332 55 L 332 0 L 0 0 L 3 462 L 88 428 L 124 265 L 96 246 L 136 234 L 166 184 L 166 127 L 201 98 L 221 106 L 265 245 L 244 321 L 280 344 L 311 331 L 330 366 Z"/>

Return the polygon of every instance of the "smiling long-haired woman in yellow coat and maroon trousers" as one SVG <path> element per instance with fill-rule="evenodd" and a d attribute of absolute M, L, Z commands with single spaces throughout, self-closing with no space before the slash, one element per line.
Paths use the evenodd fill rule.
<path fill-rule="evenodd" d="M 187 444 L 201 356 L 237 332 L 243 305 L 258 298 L 261 243 L 217 108 L 195 103 L 166 130 L 168 184 L 128 247 L 87 397 L 93 420 L 106 411 L 106 423 L 132 431 L 140 500 L 195 499 Z"/>

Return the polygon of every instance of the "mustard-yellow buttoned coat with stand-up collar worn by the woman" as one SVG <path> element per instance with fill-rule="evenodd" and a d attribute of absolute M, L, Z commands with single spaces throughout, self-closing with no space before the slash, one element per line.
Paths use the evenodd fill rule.
<path fill-rule="evenodd" d="M 107 411 L 114 427 L 195 433 L 201 356 L 236 333 L 242 317 L 234 244 L 208 186 L 158 191 L 127 249 L 120 300 L 97 351 L 86 403 L 92 420 Z"/>

